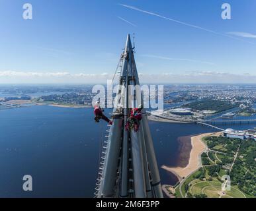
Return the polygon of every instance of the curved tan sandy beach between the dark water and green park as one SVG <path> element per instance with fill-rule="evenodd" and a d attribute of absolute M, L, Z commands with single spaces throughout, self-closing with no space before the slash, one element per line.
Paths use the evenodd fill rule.
<path fill-rule="evenodd" d="M 202 142 L 202 138 L 214 134 L 215 133 L 204 133 L 198 136 L 191 137 L 192 148 L 189 157 L 189 164 L 186 167 L 161 167 L 167 171 L 170 171 L 171 173 L 174 173 L 179 178 L 179 181 L 181 181 L 181 179 L 187 177 L 201 166 L 200 155 L 206 150 L 206 145 L 204 144 L 204 142 Z"/>

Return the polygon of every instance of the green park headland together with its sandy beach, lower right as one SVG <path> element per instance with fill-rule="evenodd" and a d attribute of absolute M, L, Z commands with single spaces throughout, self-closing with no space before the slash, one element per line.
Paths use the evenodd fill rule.
<path fill-rule="evenodd" d="M 186 167 L 163 166 L 179 177 L 179 183 L 175 186 L 162 187 L 165 195 L 171 198 L 256 196 L 255 140 L 228 138 L 222 136 L 222 133 L 206 133 L 191 137 L 191 143 L 189 164 Z M 193 149 L 196 149 L 194 153 Z"/>

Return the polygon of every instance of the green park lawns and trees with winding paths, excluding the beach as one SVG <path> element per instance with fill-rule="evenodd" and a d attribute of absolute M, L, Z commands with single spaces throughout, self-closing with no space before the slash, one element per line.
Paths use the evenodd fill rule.
<path fill-rule="evenodd" d="M 214 152 L 208 151 L 208 154 L 205 152 L 202 154 L 202 167 L 183 181 L 182 195 L 208 198 L 255 197 L 256 142 L 253 140 L 242 142 L 237 138 L 222 136 L 208 136 L 203 138 L 203 141 L 209 144 L 208 148 Z M 235 152 L 238 152 L 236 160 L 234 160 Z M 233 168 L 227 170 L 226 168 L 231 167 L 232 163 L 234 163 Z M 229 175 L 231 178 L 231 189 L 227 191 L 222 191 L 224 175 Z M 179 187 L 176 191 L 177 197 L 181 197 Z"/>

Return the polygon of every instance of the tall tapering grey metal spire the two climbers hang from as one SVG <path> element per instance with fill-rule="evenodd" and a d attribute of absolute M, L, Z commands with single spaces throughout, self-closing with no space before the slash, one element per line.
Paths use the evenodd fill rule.
<path fill-rule="evenodd" d="M 142 109 L 140 128 L 126 130 L 130 109 L 143 105 L 134 49 L 127 36 L 124 51 L 120 57 L 121 71 L 119 90 L 114 102 L 114 119 L 110 126 L 107 144 L 103 146 L 101 166 L 95 195 L 97 197 L 162 197 L 161 183 L 153 142 L 145 109 Z M 129 97 L 130 87 L 136 92 Z M 134 101 L 135 100 L 135 101 Z M 105 149 L 105 150 L 104 150 Z"/>

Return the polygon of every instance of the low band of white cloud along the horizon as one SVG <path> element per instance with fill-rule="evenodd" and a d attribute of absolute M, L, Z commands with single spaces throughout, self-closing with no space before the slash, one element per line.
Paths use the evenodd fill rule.
<path fill-rule="evenodd" d="M 256 71 L 255 71 L 256 73 Z M 234 74 L 218 71 L 194 71 L 187 73 L 140 73 L 142 83 L 256 83 L 256 75 Z M 86 74 L 86 73 L 40 73 L 0 71 L 0 84 L 106 84 L 112 80 L 113 75 L 108 73 Z M 118 76 L 116 76 L 118 78 Z"/>

